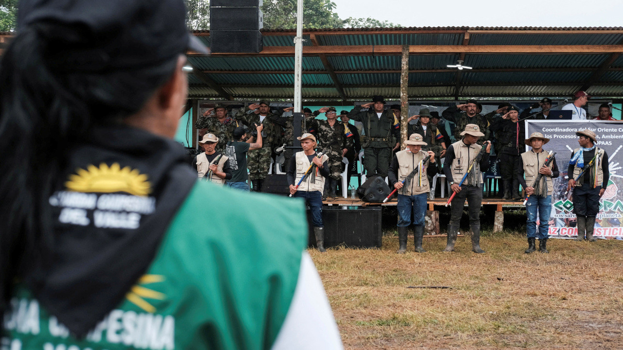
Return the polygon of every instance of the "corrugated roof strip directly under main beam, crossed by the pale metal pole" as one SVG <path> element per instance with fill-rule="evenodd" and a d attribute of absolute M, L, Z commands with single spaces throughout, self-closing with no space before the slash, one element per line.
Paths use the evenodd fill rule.
<path fill-rule="evenodd" d="M 294 57 L 191 56 L 189 62 L 201 70 L 294 70 Z M 319 57 L 303 56 L 303 70 L 325 70 Z"/>

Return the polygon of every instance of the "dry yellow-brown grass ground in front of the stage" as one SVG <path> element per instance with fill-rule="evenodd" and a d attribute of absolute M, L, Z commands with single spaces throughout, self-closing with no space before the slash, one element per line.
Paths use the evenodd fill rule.
<path fill-rule="evenodd" d="M 525 220 L 525 219 L 524 219 Z M 463 229 L 463 228 L 462 228 Z M 346 349 L 623 349 L 623 242 L 551 239 L 525 254 L 525 235 L 424 239 L 427 253 L 310 250 Z M 407 288 L 449 286 L 448 289 Z"/>

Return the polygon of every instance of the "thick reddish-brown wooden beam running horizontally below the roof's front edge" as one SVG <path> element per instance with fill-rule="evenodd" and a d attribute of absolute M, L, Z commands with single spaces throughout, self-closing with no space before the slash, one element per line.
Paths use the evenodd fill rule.
<path fill-rule="evenodd" d="M 402 45 L 303 46 L 303 55 L 401 55 Z M 409 45 L 409 54 L 616 54 L 623 45 Z M 199 54 L 189 54 L 201 56 Z M 214 54 L 211 56 L 293 56 L 293 46 L 265 46 L 259 54 Z"/>

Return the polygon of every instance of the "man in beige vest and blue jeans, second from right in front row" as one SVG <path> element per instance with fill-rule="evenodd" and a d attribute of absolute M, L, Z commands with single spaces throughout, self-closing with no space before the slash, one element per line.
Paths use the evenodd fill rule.
<path fill-rule="evenodd" d="M 525 253 L 531 253 L 536 250 L 535 240 L 539 239 L 539 252 L 549 253 L 547 250 L 547 239 L 549 237 L 549 214 L 551 212 L 551 194 L 554 192 L 552 179 L 558 177 L 558 165 L 556 159 L 549 162 L 549 166 L 545 166 L 545 159 L 548 153 L 543 151 L 543 144 L 549 142 L 549 139 L 541 133 L 532 133 L 530 138 L 525 141 L 532 149 L 528 152 L 521 153 L 517 159 L 518 173 L 517 179 L 521 187 L 526 189 L 528 202 L 526 203 L 526 230 L 528 235 L 528 249 Z M 525 179 L 524 179 L 525 174 Z M 541 174 L 541 179 L 536 182 L 536 177 Z M 539 215 L 539 229 L 536 230 L 536 213 Z"/>

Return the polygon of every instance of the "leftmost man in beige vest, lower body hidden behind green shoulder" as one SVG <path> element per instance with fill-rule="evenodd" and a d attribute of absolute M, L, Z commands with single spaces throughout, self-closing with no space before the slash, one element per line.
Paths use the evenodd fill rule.
<path fill-rule="evenodd" d="M 229 167 L 229 158 L 215 150 L 219 138 L 214 134 L 206 134 L 199 142 L 199 146 L 204 149 L 204 153 L 197 154 L 194 163 L 197 164 L 197 177 L 207 179 L 215 184 L 225 184 L 226 180 L 232 178 Z"/>

